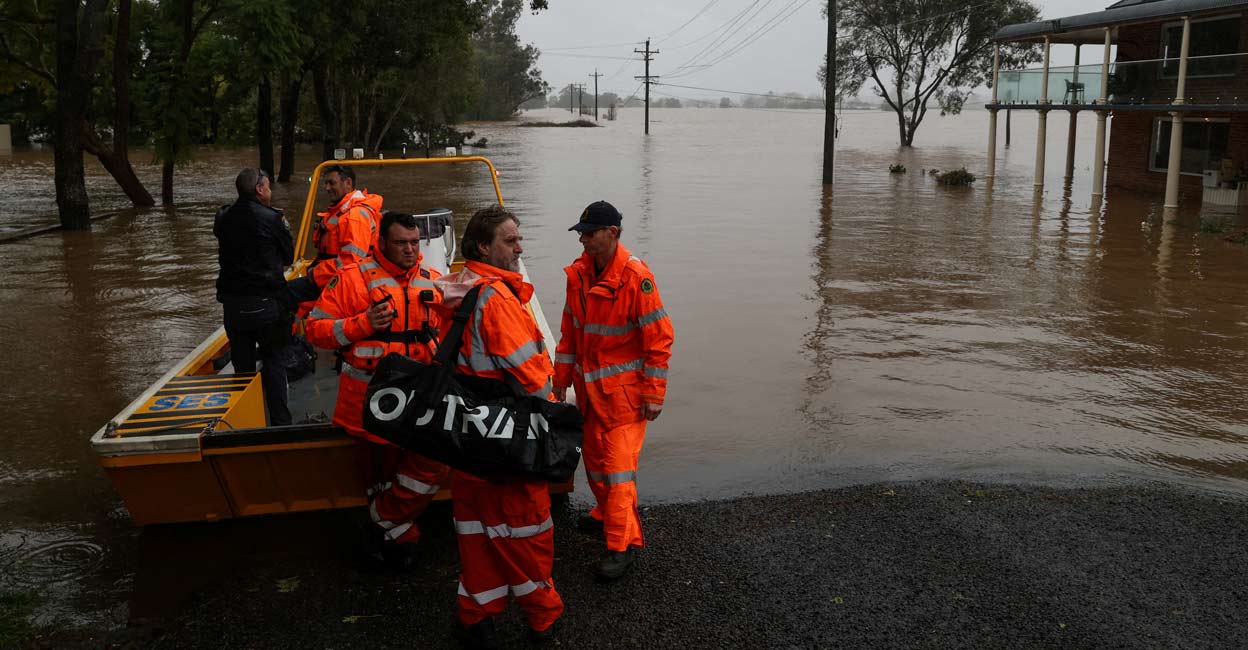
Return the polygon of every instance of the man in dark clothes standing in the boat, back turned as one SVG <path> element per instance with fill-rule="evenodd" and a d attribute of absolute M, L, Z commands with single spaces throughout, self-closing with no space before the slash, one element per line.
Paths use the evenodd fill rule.
<path fill-rule="evenodd" d="M 293 301 L 283 267 L 295 261 L 295 241 L 281 212 L 270 207 L 273 192 L 263 170 L 246 168 L 235 180 L 238 201 L 217 212 L 217 301 L 225 308 L 226 336 L 235 372 L 260 377 L 270 424 L 290 424 L 286 366 L 281 353 L 290 342 Z"/>

